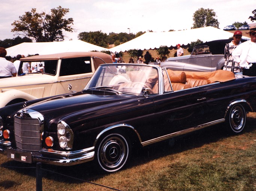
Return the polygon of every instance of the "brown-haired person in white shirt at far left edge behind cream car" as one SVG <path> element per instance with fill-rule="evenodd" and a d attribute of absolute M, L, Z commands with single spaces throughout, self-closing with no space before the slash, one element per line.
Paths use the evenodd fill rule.
<path fill-rule="evenodd" d="M 17 70 L 12 62 L 5 59 L 7 52 L 5 48 L 0 47 L 0 78 L 15 77 Z"/>

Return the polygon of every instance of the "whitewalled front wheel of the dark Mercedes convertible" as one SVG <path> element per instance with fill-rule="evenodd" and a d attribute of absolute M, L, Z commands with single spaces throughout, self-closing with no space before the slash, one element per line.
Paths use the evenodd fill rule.
<path fill-rule="evenodd" d="M 106 172 L 120 170 L 130 155 L 128 138 L 118 133 L 112 133 L 102 138 L 96 148 L 97 163 Z"/>

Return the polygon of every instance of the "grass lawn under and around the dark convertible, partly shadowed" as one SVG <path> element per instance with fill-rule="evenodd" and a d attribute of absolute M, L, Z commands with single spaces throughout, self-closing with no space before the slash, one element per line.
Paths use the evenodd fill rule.
<path fill-rule="evenodd" d="M 240 135 L 223 132 L 223 124 L 138 150 L 126 169 L 102 174 L 93 163 L 44 169 L 129 191 L 255 191 L 256 116 L 249 113 Z M 1 165 L 34 167 L 0 156 Z M 36 190 L 35 169 L 0 168 L 0 190 Z M 43 190 L 110 190 L 43 172 Z"/>

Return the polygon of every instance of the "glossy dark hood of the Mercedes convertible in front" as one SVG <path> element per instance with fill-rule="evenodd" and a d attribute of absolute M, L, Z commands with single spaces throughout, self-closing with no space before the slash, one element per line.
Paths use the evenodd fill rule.
<path fill-rule="evenodd" d="M 72 96 L 70 96 L 72 95 Z M 35 110 L 41 113 L 45 120 L 66 120 L 70 116 L 91 115 L 99 112 L 100 109 L 108 109 L 124 103 L 125 100 L 138 99 L 141 96 L 136 95 L 110 95 L 103 94 L 88 94 L 88 93 L 75 93 L 65 94 L 63 96 L 53 97 L 48 100 L 32 104 L 27 109 Z"/>

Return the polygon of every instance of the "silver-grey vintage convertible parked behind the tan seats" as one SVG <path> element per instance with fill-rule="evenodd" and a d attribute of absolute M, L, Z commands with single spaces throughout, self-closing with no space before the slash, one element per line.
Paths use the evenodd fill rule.
<path fill-rule="evenodd" d="M 190 55 L 170 57 L 161 66 L 178 71 L 211 72 L 222 69 L 224 64 L 224 54 L 211 54 L 209 47 L 203 45 L 195 46 Z"/>

